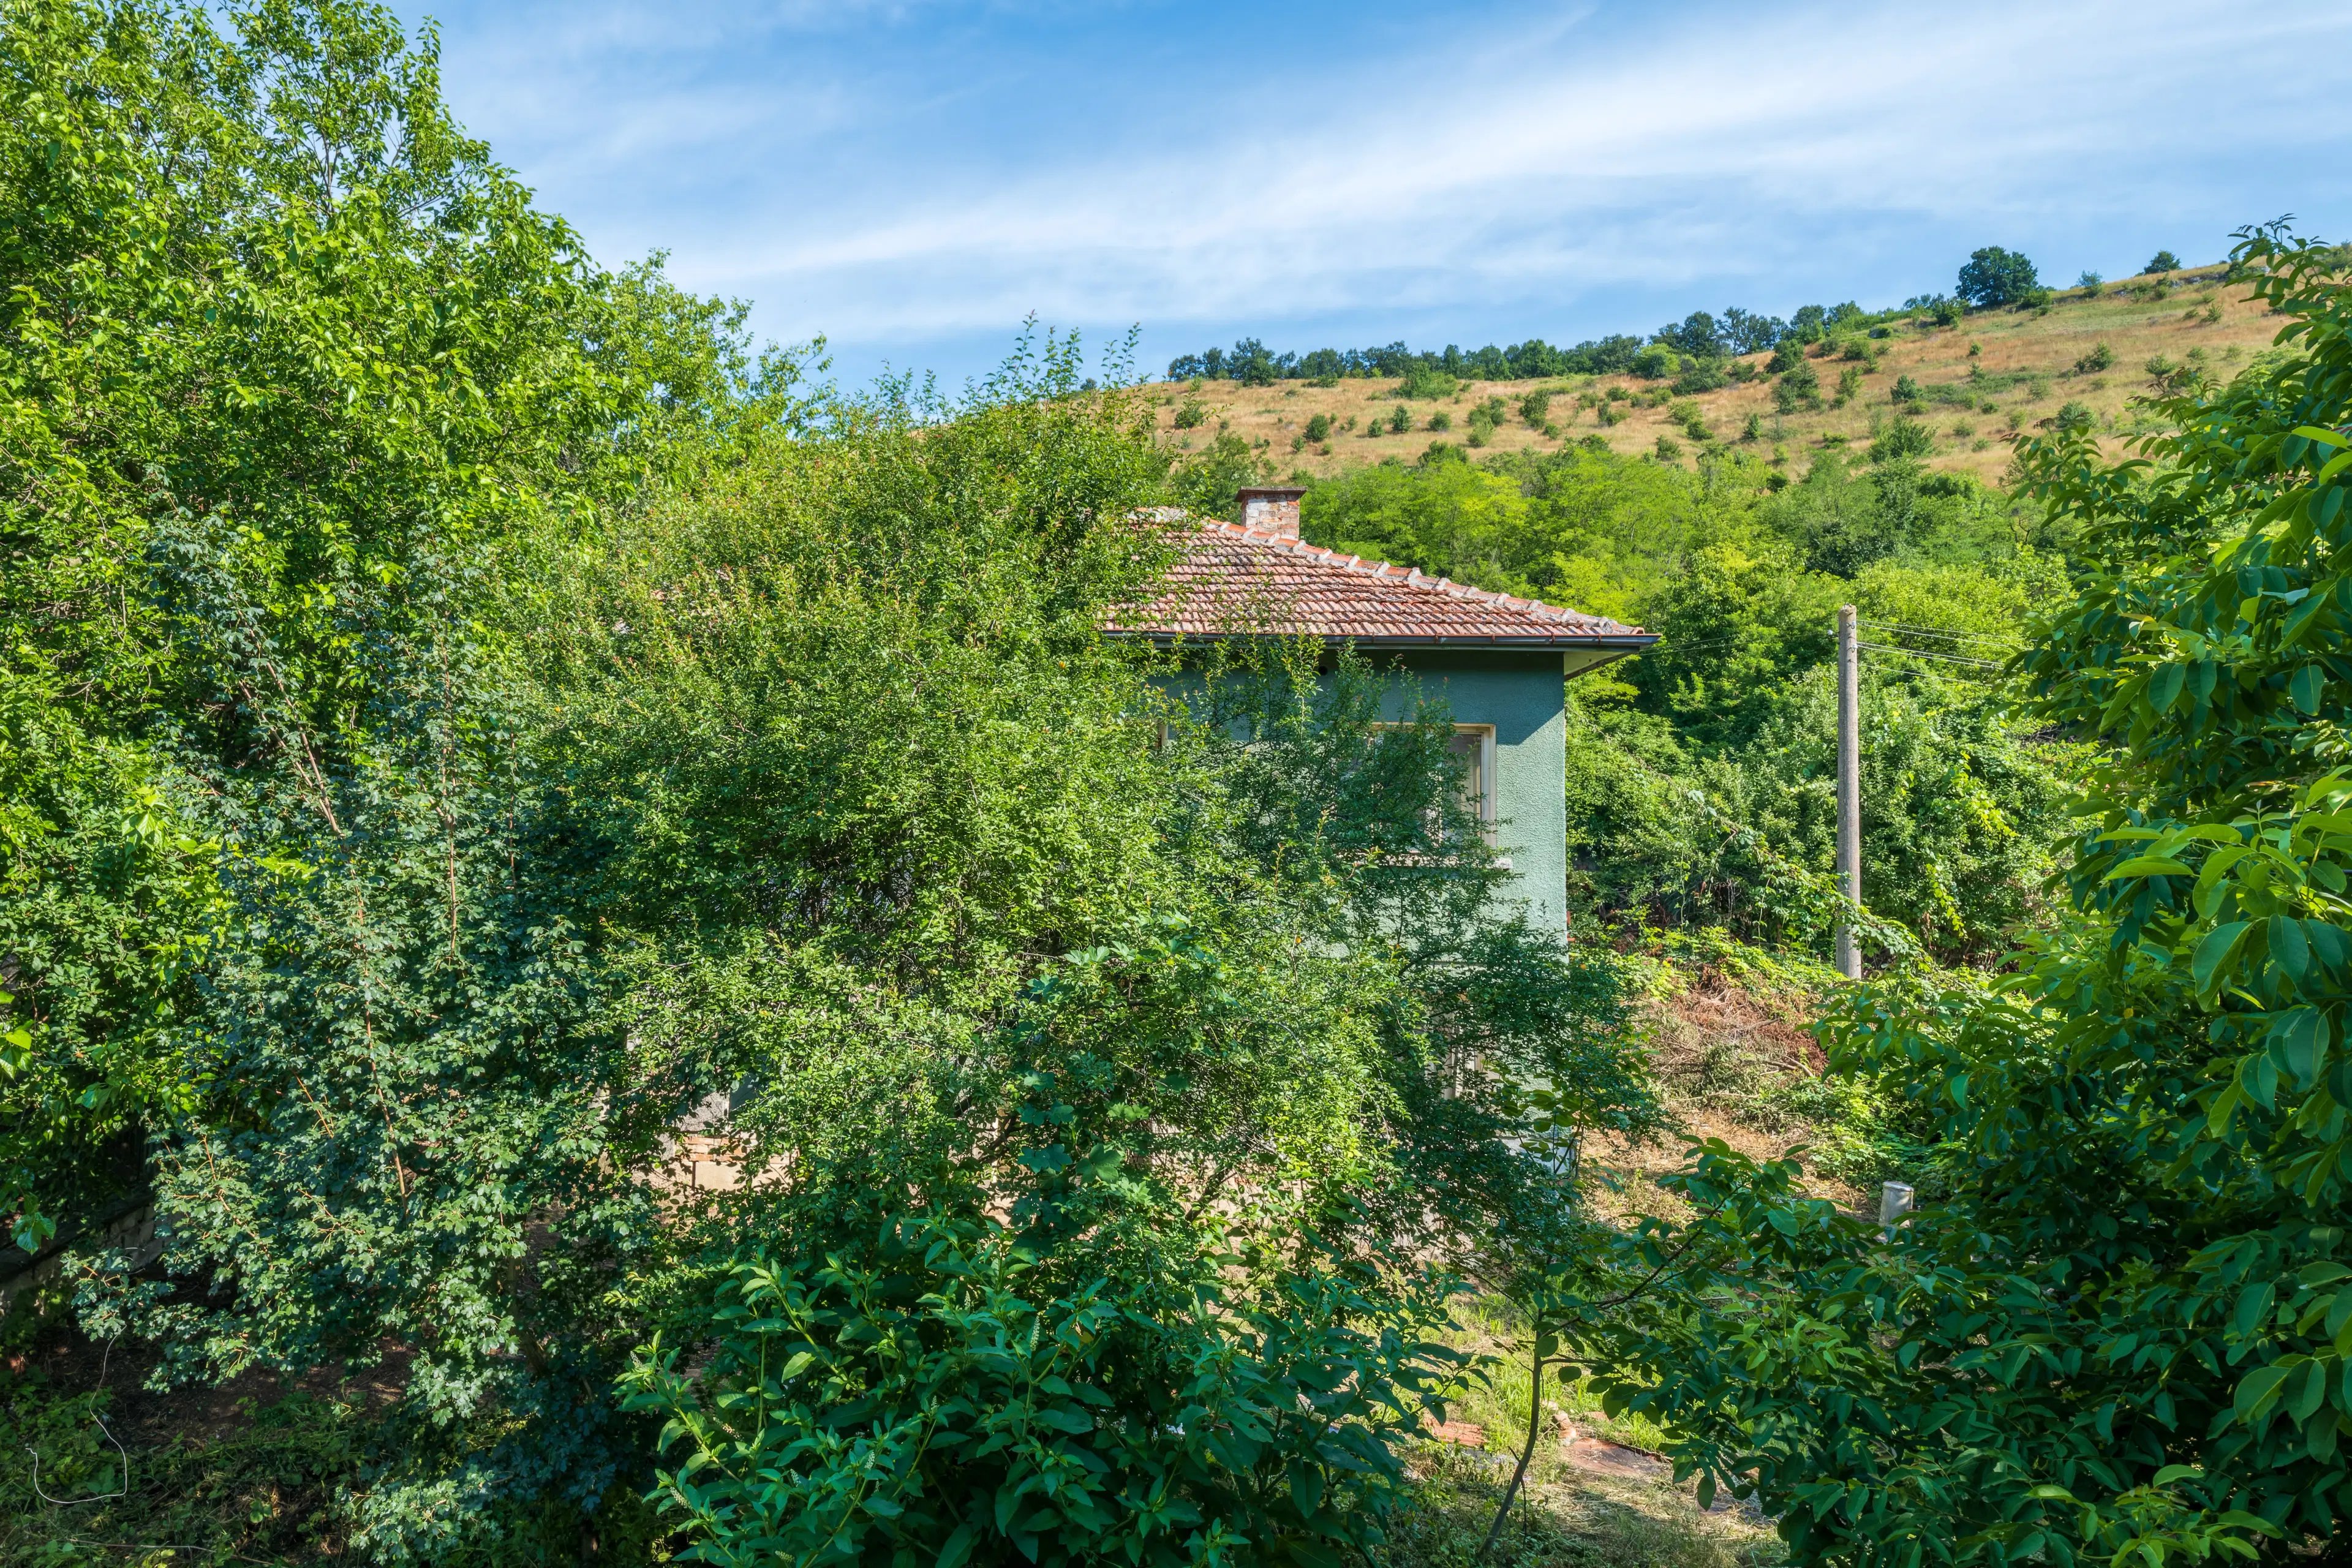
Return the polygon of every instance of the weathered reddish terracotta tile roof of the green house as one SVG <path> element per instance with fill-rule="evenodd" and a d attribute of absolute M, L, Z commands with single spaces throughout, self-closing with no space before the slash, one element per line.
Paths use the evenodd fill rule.
<path fill-rule="evenodd" d="M 1543 599 L 1486 592 L 1414 567 L 1367 562 L 1237 522 L 1155 517 L 1178 529 L 1169 592 L 1105 623 L 1115 637 L 1329 637 L 1369 646 L 1623 649 L 1656 642 Z"/>

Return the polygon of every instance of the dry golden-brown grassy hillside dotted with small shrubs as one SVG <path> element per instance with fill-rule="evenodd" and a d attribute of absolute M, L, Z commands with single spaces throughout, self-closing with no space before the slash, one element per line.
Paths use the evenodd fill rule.
<path fill-rule="evenodd" d="M 1771 355 L 1745 355 L 1726 364 L 1745 364 L 1752 381 L 1733 381 L 1712 393 L 1677 397 L 1665 381 L 1639 376 L 1566 376 L 1555 381 L 1463 381 L 1444 397 L 1404 397 L 1404 383 L 1392 378 L 1345 378 L 1336 386 L 1287 381 L 1249 388 L 1235 381 L 1169 383 L 1160 393 L 1162 440 L 1178 451 L 1204 449 L 1221 430 L 1232 430 L 1282 473 L 1329 477 L 1385 458 L 1411 461 L 1432 440 L 1465 442 L 1470 411 L 1501 397 L 1508 416 L 1491 433 L 1491 451 L 1552 451 L 1564 442 L 1599 435 L 1613 451 L 1656 454 L 1658 437 L 1682 449 L 1689 465 L 1708 442 L 1740 444 L 1776 463 L 1804 470 L 1809 451 L 1837 444 L 1865 444 L 1875 430 L 1900 414 L 1893 393 L 1910 376 L 1924 393 L 1912 409 L 1931 430 L 1929 470 L 1971 473 L 1997 480 L 2009 465 L 2009 437 L 2056 421 L 2072 402 L 2084 404 L 2103 447 L 2114 451 L 2140 425 L 2131 409 L 2138 393 L 2152 390 L 2150 360 L 2180 364 L 2201 362 L 2216 374 L 2244 364 L 2270 346 L 2274 320 L 2260 303 L 2246 303 L 2244 289 L 2220 282 L 2220 266 L 2185 268 L 2171 275 L 2143 275 L 2103 284 L 2096 296 L 2065 289 L 2046 310 L 1987 310 L 1938 327 L 1926 317 L 1882 327 L 1886 336 L 1851 339 L 1870 346 L 1867 360 L 1842 360 L 1839 346 L 1811 364 L 1820 376 L 1818 411 L 1773 409 L 1764 364 Z M 2077 369 L 2096 362 L 2107 346 L 2105 369 Z M 1856 388 L 1839 397 L 1844 371 L 1856 374 Z M 1738 374 L 1738 371 L 1733 371 Z M 1545 423 L 1550 433 L 1524 423 L 1519 404 L 1529 393 L 1550 393 Z M 1602 423 L 1611 395 L 1616 423 Z M 1178 425 L 1185 404 L 1197 404 L 1200 423 Z M 1409 414 L 1409 430 L 1392 433 L 1388 418 L 1397 407 Z M 1705 435 L 1691 433 L 1691 414 Z M 1432 430 L 1444 414 L 1449 430 Z M 1324 442 L 1308 442 L 1315 416 L 1331 421 Z M 1757 423 L 1748 437 L 1750 416 Z M 1374 421 L 1381 421 L 1374 430 Z M 1792 473 L 1792 477 L 1795 477 Z"/>

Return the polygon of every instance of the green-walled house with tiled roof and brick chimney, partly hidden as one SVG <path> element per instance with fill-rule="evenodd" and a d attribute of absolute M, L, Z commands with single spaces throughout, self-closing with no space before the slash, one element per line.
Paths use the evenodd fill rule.
<path fill-rule="evenodd" d="M 1486 592 L 1416 567 L 1367 562 L 1298 538 L 1303 489 L 1242 491 L 1242 522 L 1169 517 L 1169 590 L 1105 628 L 1160 644 L 1319 637 L 1390 670 L 1392 717 L 1409 686 L 1454 715 L 1463 790 L 1491 825 L 1531 919 L 1566 931 L 1566 682 L 1658 642 L 1541 599 Z"/>

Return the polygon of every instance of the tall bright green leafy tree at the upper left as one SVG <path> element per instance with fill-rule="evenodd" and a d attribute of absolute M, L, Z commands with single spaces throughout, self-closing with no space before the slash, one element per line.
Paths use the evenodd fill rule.
<path fill-rule="evenodd" d="M 26 1239 L 115 1197 L 141 1131 L 242 1093 L 176 1060 L 191 959 L 228 884 L 303 875 L 280 835 L 393 776 L 362 759 L 421 670 L 369 661 L 400 644 L 445 684 L 435 595 L 800 409 L 741 310 L 588 266 L 386 14 L 223 26 L 45 2 L 0 33 L 0 926 L 31 1037 L 0 1168 Z"/>

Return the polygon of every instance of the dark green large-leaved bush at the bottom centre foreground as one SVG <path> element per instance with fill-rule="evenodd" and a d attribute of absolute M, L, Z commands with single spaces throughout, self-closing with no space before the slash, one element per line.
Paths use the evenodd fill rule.
<path fill-rule="evenodd" d="M 1225 1302 L 1197 1244 L 1110 1279 L 1070 1284 L 1070 1262 L 938 1215 L 821 1260 L 729 1260 L 708 1361 L 680 1373 L 654 1340 L 628 1380 L 680 1455 L 661 1505 L 713 1563 L 1381 1544 L 1397 1439 L 1458 1363 L 1425 1338 L 1435 1293 L 1367 1295 L 1369 1269 L 1336 1269 Z"/>

